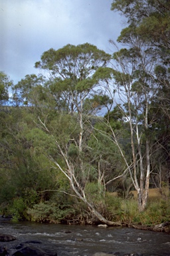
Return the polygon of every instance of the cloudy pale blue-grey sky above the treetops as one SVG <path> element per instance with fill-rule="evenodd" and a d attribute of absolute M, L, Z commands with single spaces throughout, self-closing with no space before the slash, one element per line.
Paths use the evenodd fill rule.
<path fill-rule="evenodd" d="M 0 71 L 17 83 L 38 73 L 35 62 L 44 51 L 91 43 L 108 53 L 122 18 L 110 11 L 112 0 L 1 0 Z"/>

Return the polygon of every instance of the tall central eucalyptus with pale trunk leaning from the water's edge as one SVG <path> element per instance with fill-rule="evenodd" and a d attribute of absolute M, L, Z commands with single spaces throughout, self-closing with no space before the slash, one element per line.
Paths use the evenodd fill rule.
<path fill-rule="evenodd" d="M 49 75 L 48 88 L 56 100 L 56 119 L 48 122 L 47 116 L 39 117 L 37 125 L 53 138 L 56 154 L 49 154 L 48 149 L 46 153 L 56 169 L 70 181 L 76 197 L 100 221 L 118 225 L 108 221 L 86 195 L 88 183 L 96 181 L 96 174 L 92 177 L 91 149 L 87 143 L 94 124 L 100 118 L 94 115 L 112 103 L 106 93 L 107 88 L 99 83 L 108 79 L 105 71 L 110 58 L 108 53 L 88 43 L 44 52 L 35 67 L 44 69 Z"/>

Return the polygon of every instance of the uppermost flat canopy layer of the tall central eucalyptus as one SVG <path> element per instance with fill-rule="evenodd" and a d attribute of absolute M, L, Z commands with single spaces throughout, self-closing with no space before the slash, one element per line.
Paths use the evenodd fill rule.
<path fill-rule="evenodd" d="M 35 67 L 41 67 L 42 69 L 50 69 L 53 72 L 57 73 L 60 69 L 59 63 L 63 63 L 61 73 L 65 77 L 70 77 L 72 72 L 68 69 L 68 64 L 65 61 L 70 62 L 70 68 L 75 68 L 77 65 L 77 61 L 81 61 L 81 65 L 79 67 L 79 72 L 82 72 L 82 68 L 84 67 L 84 63 L 87 58 L 90 57 L 90 65 L 84 70 L 87 75 L 92 69 L 98 67 L 98 60 L 101 59 L 101 62 L 106 63 L 110 59 L 110 55 L 104 53 L 104 51 L 98 50 L 96 46 L 90 45 L 89 43 L 84 43 L 82 45 L 66 45 L 61 49 L 55 51 L 54 49 L 50 49 L 45 51 L 41 56 L 41 61 L 35 63 Z M 84 77 L 85 78 L 85 77 Z"/>

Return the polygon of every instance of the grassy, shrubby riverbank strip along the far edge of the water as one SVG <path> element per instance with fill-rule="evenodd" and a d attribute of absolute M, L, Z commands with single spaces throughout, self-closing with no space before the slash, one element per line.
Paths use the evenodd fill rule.
<path fill-rule="evenodd" d="M 170 197 L 167 188 L 165 191 L 159 189 L 149 189 L 149 200 L 145 211 L 139 212 L 137 205 L 137 195 L 131 191 L 133 197 L 123 199 L 114 193 L 106 193 L 104 203 L 96 203 L 96 209 L 109 223 L 115 226 L 132 227 L 148 231 L 170 232 Z M 163 197 L 164 195 L 164 197 Z M 45 206 L 45 207 L 44 207 Z M 75 207 L 74 207 L 75 206 Z M 36 208 L 37 207 L 37 208 Z M 74 210 L 72 208 L 74 207 Z M 69 225 L 98 225 L 103 224 L 92 213 L 88 212 L 88 207 L 81 202 L 78 205 L 71 205 L 70 209 L 64 209 L 66 215 L 57 218 L 54 214 L 56 208 L 51 208 L 48 202 L 34 205 L 33 209 L 27 211 L 25 218 L 20 215 L 20 220 L 33 221 L 38 223 L 56 223 Z M 69 214 L 67 214 L 69 212 Z M 71 212 L 71 213 L 70 213 Z M 26 211 L 25 211 L 26 213 Z M 18 221 L 16 215 L 11 215 L 12 221 Z M 58 215 L 60 216 L 60 215 Z M 110 225 L 110 224 L 108 224 Z"/>

